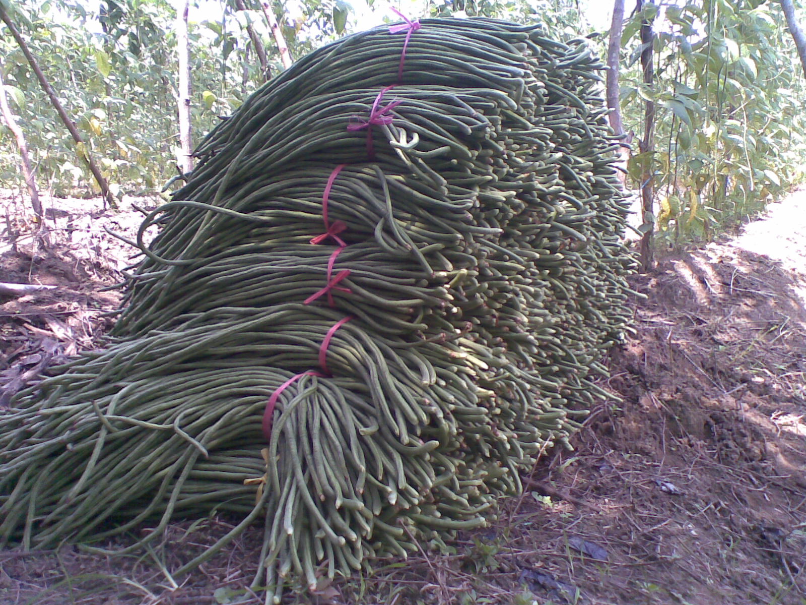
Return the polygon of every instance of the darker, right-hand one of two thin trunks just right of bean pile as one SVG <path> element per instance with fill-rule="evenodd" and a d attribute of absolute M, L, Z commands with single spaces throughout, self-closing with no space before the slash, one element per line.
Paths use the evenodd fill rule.
<path fill-rule="evenodd" d="M 652 4 L 646 2 L 646 4 Z M 638 0 L 638 10 L 641 10 L 645 5 L 643 0 Z M 643 70 L 644 84 L 651 87 L 654 81 L 654 67 L 653 67 L 653 46 L 654 46 L 654 31 L 652 29 L 652 19 L 644 19 L 641 23 L 641 44 L 644 49 L 641 52 L 641 67 Z M 655 104 L 654 101 L 646 101 L 646 109 L 644 111 L 644 138 L 641 141 L 641 152 L 647 154 L 644 157 L 643 166 L 644 170 L 641 175 L 641 206 L 643 211 L 643 224 L 649 223 L 649 226 L 641 238 L 639 252 L 641 255 L 641 267 L 644 271 L 648 271 L 652 267 L 652 236 L 654 232 L 654 178 L 652 174 L 652 160 L 648 155 L 654 149 L 654 116 Z"/>

